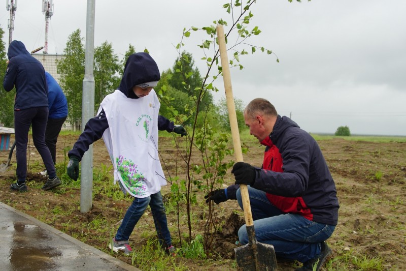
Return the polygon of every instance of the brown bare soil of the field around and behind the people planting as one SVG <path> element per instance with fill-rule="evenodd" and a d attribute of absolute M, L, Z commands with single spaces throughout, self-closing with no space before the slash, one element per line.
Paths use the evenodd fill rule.
<path fill-rule="evenodd" d="M 77 136 L 59 137 L 58 163 L 64 161 L 63 149 L 69 149 L 76 139 Z M 172 138 L 160 139 L 160 151 L 171 170 L 175 170 L 170 163 L 171 155 L 175 150 L 173 144 Z M 339 258 L 343 255 L 368 259 L 381 257 L 384 262 L 381 270 L 406 270 L 406 143 L 371 143 L 332 139 L 321 140 L 319 144 L 334 177 L 341 205 L 339 225 L 328 240 L 328 244 L 333 250 L 333 257 Z M 248 154 L 244 155 L 244 160 L 259 166 L 262 161 L 262 152 L 263 148 L 259 144 L 252 144 Z M 38 175 L 38 172 L 42 170 L 40 156 L 32 146 L 29 154 L 29 191 L 15 193 L 9 189 L 10 184 L 15 181 L 16 162 L 15 155 L 13 155 L 13 166 L 5 172 L 0 172 L 0 201 L 45 221 L 67 234 L 74 237 L 79 235 L 79 239 L 83 242 L 110 253 L 106 249 L 107 240 L 110 237 L 106 236 L 106 238 L 101 238 L 103 241 L 100 241 L 100 238 L 94 237 L 99 233 L 84 225 L 95 218 L 103 217 L 109 221 L 109 225 L 114 226 L 112 232 L 115 232 L 130 201 L 114 201 L 103 195 L 95 195 L 91 212 L 82 214 L 78 210 L 80 189 L 72 189 L 64 193 L 42 191 L 38 184 L 42 184 L 45 179 Z M 110 165 L 103 141 L 100 140 L 94 144 L 93 154 L 95 168 L 99 167 L 101 163 Z M 0 162 L 5 163 L 7 157 L 8 152 L 0 152 Z M 231 183 L 230 175 L 227 184 Z M 63 188 L 59 187 L 56 190 L 61 189 Z M 168 189 L 165 187 L 163 192 L 169 191 Z M 55 206 L 64 210 L 72 210 L 72 212 L 69 212 L 69 216 L 59 216 L 57 212 L 53 212 Z M 244 220 L 241 212 L 238 213 L 240 215 L 235 215 L 233 212 L 238 209 L 235 201 L 227 201 L 215 207 L 218 208 L 219 219 L 227 221 L 215 243 L 216 251 L 223 260 L 215 261 L 211 266 L 205 262 L 205 266 L 202 266 L 199 261 L 179 259 L 179 261 L 185 262 L 190 270 L 233 270 L 231 267 L 234 260 L 233 248 L 236 247 L 235 240 L 237 240 L 235 231 L 244 223 Z M 199 208 L 196 206 L 196 209 L 193 210 L 197 215 L 201 213 Z M 150 236 L 154 235 L 151 216 L 145 216 L 143 219 L 144 221 L 140 221 L 140 225 L 137 225 L 136 228 L 140 230 L 134 230 L 130 238 L 133 245 L 137 244 L 136 247 L 138 244 L 146 243 L 146 230 L 149 230 Z M 168 222 L 171 227 L 177 229 L 176 216 L 168 215 Z M 66 223 L 70 224 L 70 230 L 65 230 Z M 205 222 L 201 220 L 201 227 L 204 224 Z M 195 225 L 195 227 L 198 226 Z M 202 232 L 203 229 L 200 234 Z M 176 232 L 172 232 L 172 235 L 175 241 L 179 239 L 176 238 Z M 119 255 L 116 257 L 131 263 L 128 257 Z M 292 262 L 281 261 L 278 264 L 280 270 L 293 269 Z M 332 263 L 334 270 L 340 270 L 338 266 L 340 266 L 340 260 Z M 352 264 L 346 269 L 359 270 Z"/>

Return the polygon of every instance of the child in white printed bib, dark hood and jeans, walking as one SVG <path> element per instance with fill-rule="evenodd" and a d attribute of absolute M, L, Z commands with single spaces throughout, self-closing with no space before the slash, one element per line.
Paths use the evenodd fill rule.
<path fill-rule="evenodd" d="M 103 99 L 97 115 L 86 123 L 68 153 L 67 174 L 76 180 L 79 162 L 89 145 L 103 137 L 114 166 L 115 183 L 134 198 L 109 243 L 109 248 L 117 253 L 132 253 L 129 237 L 148 205 L 159 242 L 168 254 L 176 252 L 160 192 L 166 179 L 158 154 L 158 130 L 182 136 L 187 133 L 184 127 L 158 115 L 160 103 L 153 87 L 159 79 L 158 66 L 148 53 L 130 55 L 118 89 Z"/>

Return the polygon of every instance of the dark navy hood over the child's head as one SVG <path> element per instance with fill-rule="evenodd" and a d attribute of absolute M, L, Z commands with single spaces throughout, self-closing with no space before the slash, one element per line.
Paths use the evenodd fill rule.
<path fill-rule="evenodd" d="M 118 89 L 128 97 L 135 85 L 159 81 L 160 78 L 158 65 L 148 53 L 134 53 L 128 56 Z"/>

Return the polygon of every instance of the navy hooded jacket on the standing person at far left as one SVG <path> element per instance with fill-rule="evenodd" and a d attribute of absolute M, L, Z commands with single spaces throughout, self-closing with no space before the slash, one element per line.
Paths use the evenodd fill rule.
<path fill-rule="evenodd" d="M 7 92 L 16 88 L 14 110 L 48 107 L 48 87 L 41 62 L 29 54 L 20 41 L 12 41 L 7 52 L 9 64 L 3 87 Z"/>

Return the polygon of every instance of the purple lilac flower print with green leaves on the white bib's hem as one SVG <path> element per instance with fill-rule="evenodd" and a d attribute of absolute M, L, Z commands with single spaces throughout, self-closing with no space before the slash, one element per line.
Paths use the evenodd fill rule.
<path fill-rule="evenodd" d="M 134 195 L 145 196 L 147 194 L 146 178 L 142 172 L 138 171 L 138 166 L 131 160 L 126 160 L 122 155 L 116 158 L 116 162 L 117 169 L 127 189 Z"/>

